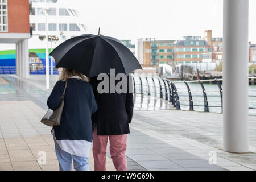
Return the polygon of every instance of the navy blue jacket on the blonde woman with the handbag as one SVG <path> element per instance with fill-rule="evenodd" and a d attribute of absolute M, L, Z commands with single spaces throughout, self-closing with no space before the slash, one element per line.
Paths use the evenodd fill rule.
<path fill-rule="evenodd" d="M 50 109 L 60 105 L 60 97 L 65 86 L 64 81 L 57 81 L 47 100 Z M 68 78 L 64 97 L 64 108 L 60 126 L 53 126 L 57 140 L 86 140 L 92 142 L 91 115 L 97 110 L 92 86 L 83 80 Z"/>

